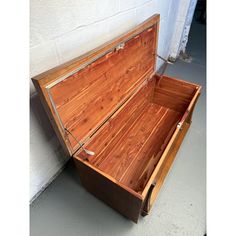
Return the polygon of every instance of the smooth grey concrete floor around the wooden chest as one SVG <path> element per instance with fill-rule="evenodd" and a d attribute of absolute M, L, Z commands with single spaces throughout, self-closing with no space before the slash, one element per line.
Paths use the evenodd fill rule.
<path fill-rule="evenodd" d="M 73 164 L 32 203 L 31 236 L 185 235 L 206 230 L 206 59 L 205 26 L 192 25 L 187 52 L 167 74 L 203 86 L 192 126 L 150 215 L 138 224 L 93 197 L 81 186 Z"/>

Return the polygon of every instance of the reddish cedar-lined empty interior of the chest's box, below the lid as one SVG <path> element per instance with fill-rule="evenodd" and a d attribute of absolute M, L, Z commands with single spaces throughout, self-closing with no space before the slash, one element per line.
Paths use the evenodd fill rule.
<path fill-rule="evenodd" d="M 91 138 L 94 156 L 74 155 L 140 194 L 196 92 L 166 76 L 158 81 L 154 75 Z"/>

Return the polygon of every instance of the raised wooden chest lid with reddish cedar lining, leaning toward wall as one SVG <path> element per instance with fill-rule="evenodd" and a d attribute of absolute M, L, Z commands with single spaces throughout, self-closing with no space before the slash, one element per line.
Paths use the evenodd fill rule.
<path fill-rule="evenodd" d="M 32 78 L 69 155 L 155 72 L 158 24 L 159 15 L 153 15 L 101 47 Z"/>

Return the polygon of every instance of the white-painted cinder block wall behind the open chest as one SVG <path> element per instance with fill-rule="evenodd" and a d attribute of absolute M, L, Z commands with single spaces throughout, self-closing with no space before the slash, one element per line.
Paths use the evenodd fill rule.
<path fill-rule="evenodd" d="M 31 0 L 31 77 L 77 57 L 161 14 L 158 53 L 173 44 L 182 0 Z M 179 42 L 174 40 L 175 46 Z M 172 45 L 172 48 L 173 45 Z M 30 82 L 30 199 L 52 180 L 67 158 Z"/>

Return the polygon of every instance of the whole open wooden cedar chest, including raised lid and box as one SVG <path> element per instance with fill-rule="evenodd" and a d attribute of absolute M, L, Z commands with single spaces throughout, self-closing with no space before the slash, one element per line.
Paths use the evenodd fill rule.
<path fill-rule="evenodd" d="M 149 213 L 201 89 L 156 73 L 159 19 L 33 78 L 83 186 L 134 222 Z"/>

